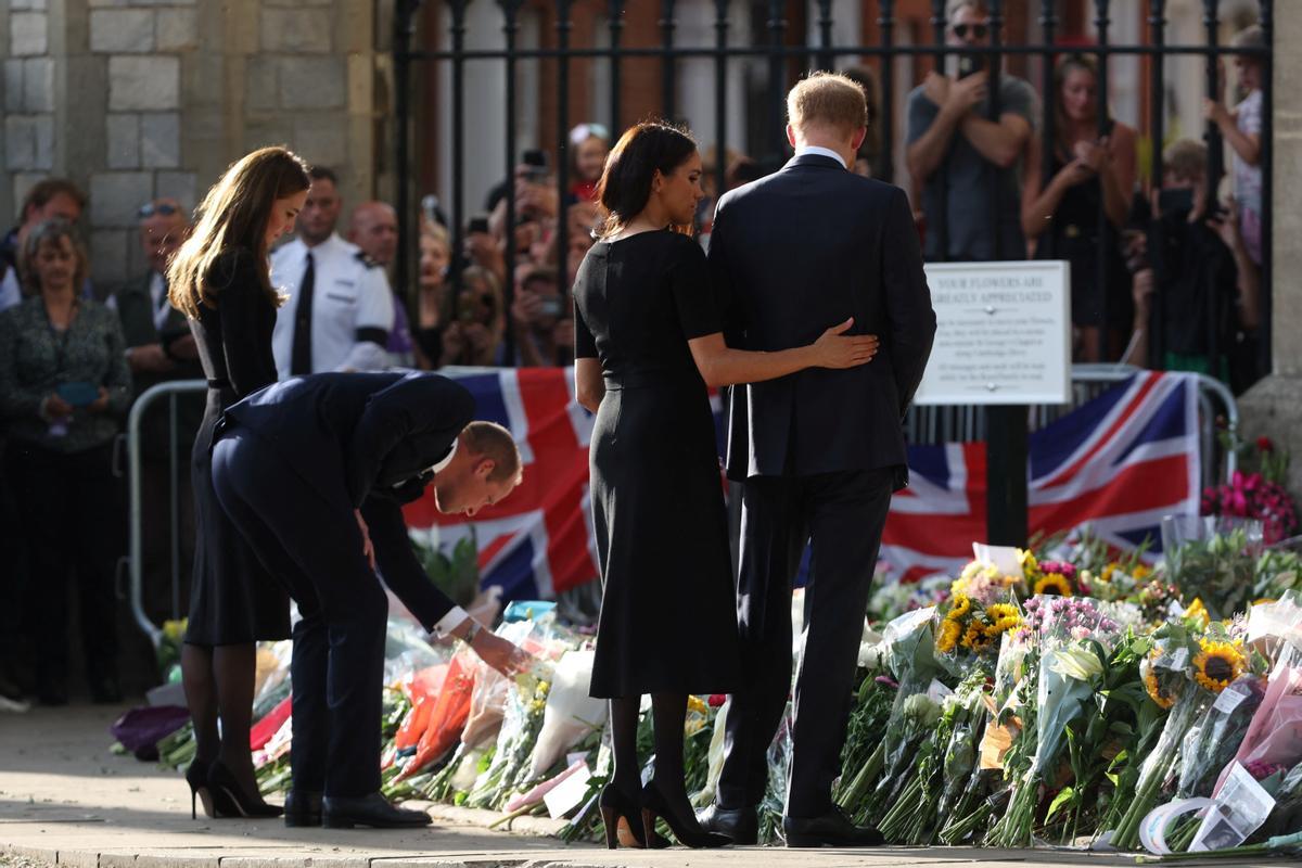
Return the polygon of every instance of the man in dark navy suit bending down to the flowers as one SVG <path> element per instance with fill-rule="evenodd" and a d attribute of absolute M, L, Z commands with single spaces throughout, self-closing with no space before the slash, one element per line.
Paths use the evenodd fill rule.
<path fill-rule="evenodd" d="M 465 388 L 432 373 L 320 373 L 255 392 L 215 433 L 217 498 L 302 616 L 286 825 L 430 822 L 379 794 L 388 599 L 376 565 L 426 629 L 501 671 L 527 660 L 430 582 L 402 521 L 431 481 L 440 511 L 466 515 L 519 481 L 510 435 L 473 413 Z"/>

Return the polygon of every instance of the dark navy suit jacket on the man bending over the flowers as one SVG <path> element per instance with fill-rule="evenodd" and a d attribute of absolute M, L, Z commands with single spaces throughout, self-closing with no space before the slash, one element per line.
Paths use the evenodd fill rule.
<path fill-rule="evenodd" d="M 225 418 L 270 444 L 314 495 L 362 510 L 385 584 L 432 629 L 453 604 L 417 561 L 401 505 L 422 495 L 474 409 L 464 387 L 434 373 L 315 373 L 255 392 Z"/>

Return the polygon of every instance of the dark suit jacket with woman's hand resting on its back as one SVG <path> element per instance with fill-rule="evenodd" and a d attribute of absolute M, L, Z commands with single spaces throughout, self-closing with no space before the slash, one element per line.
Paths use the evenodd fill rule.
<path fill-rule="evenodd" d="M 936 315 L 904 191 L 802 155 L 720 200 L 710 265 L 729 346 L 805 346 L 850 316 L 850 334 L 881 338 L 868 364 L 733 388 L 728 476 L 896 467 L 906 484 L 901 419 Z"/>

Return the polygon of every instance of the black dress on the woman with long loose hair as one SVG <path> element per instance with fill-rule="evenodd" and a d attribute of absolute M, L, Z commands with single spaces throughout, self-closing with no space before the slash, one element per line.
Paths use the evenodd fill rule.
<path fill-rule="evenodd" d="M 216 307 L 190 320 L 208 401 L 190 455 L 194 487 L 194 576 L 185 640 L 233 645 L 289 638 L 289 597 L 227 518 L 212 489 L 212 429 L 236 401 L 276 381 L 271 332 L 276 307 L 267 298 L 251 250 L 221 254 L 207 281 Z"/>

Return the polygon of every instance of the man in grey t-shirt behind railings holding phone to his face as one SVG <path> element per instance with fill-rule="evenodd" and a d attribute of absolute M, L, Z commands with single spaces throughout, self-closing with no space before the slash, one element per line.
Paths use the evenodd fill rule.
<path fill-rule="evenodd" d="M 990 44 L 984 0 L 950 0 L 947 20 L 945 39 L 952 48 Z M 1021 157 L 1034 125 L 1035 91 L 1021 78 L 1000 75 L 999 121 L 987 120 L 990 59 L 967 55 L 976 72 L 957 79 L 930 73 L 909 94 L 907 163 L 922 190 L 930 260 L 1026 258 Z M 996 191 L 997 224 L 991 200 Z M 941 250 L 943 234 L 948 250 Z"/>

